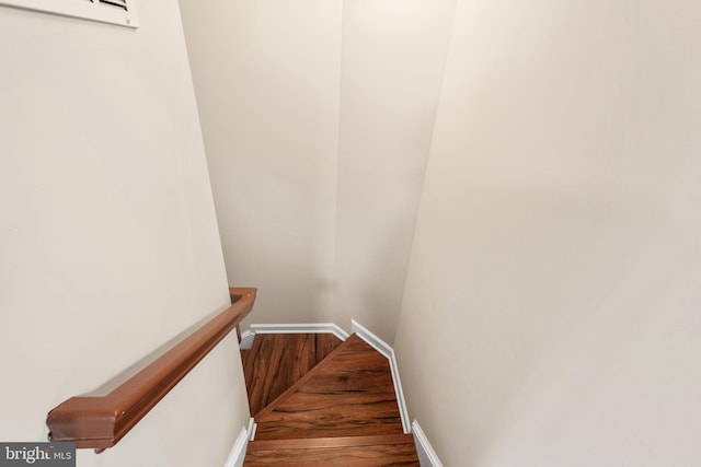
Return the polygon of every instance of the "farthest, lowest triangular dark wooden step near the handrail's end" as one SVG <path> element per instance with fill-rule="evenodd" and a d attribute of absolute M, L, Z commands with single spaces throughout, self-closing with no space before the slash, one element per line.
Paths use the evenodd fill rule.
<path fill-rule="evenodd" d="M 251 413 L 255 416 L 301 380 L 342 340 L 332 334 L 261 334 L 241 352 Z"/>

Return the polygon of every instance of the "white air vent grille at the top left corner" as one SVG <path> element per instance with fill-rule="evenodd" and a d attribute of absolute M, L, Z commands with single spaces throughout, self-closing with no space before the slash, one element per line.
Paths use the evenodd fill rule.
<path fill-rule="evenodd" d="M 137 0 L 0 0 L 0 5 L 139 27 Z M 1 7 L 0 7 L 1 8 Z"/>

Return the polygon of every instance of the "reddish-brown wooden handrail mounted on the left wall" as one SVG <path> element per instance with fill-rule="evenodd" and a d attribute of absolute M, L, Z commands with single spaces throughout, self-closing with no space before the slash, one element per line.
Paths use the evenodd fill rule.
<path fill-rule="evenodd" d="M 256 289 L 230 288 L 231 306 L 105 396 L 71 397 L 48 412 L 49 440 L 103 451 L 129 432 L 253 308 Z"/>

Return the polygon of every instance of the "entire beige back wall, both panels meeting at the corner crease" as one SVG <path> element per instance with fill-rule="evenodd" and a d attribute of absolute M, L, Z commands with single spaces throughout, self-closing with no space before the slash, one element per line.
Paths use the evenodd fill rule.
<path fill-rule="evenodd" d="M 232 284 L 392 341 L 455 0 L 181 0 Z"/>

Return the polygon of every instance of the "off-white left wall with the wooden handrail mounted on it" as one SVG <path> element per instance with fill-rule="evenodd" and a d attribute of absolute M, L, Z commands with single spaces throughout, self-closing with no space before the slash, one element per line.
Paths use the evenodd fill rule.
<path fill-rule="evenodd" d="M 177 4 L 139 16 L 131 31 L 0 8 L 3 441 L 45 440 L 53 407 L 228 303 Z M 227 338 L 79 462 L 223 465 L 248 418 Z"/>

